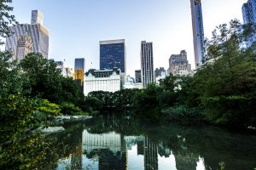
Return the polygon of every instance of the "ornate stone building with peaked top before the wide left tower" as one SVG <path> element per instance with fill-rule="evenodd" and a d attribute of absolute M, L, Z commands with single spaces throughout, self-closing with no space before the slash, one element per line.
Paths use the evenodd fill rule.
<path fill-rule="evenodd" d="M 24 59 L 26 54 L 32 52 L 32 37 L 27 33 L 25 35 L 20 35 L 17 42 L 17 53 L 15 59 L 20 60 Z"/>

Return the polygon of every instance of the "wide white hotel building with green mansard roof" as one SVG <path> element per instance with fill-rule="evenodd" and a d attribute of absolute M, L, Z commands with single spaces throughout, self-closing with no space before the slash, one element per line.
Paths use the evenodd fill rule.
<path fill-rule="evenodd" d="M 84 95 L 94 91 L 116 92 L 122 88 L 121 70 L 89 70 L 84 77 Z"/>

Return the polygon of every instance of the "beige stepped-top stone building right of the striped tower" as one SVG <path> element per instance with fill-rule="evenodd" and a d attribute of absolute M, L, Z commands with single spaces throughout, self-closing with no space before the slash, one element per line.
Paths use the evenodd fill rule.
<path fill-rule="evenodd" d="M 172 54 L 169 59 L 169 71 L 173 76 L 187 76 L 191 74 L 191 65 L 187 59 L 187 52 L 182 50 L 180 54 Z"/>

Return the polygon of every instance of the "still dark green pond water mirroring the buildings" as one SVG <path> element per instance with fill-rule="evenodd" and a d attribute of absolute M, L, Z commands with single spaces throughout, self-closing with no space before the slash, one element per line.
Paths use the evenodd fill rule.
<path fill-rule="evenodd" d="M 256 135 L 217 127 L 144 123 L 100 116 L 52 134 L 61 169 L 253 170 Z"/>

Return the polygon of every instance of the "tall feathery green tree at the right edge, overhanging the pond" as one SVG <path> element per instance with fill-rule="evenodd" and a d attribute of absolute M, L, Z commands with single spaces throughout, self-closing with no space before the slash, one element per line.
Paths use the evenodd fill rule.
<path fill-rule="evenodd" d="M 231 20 L 229 26 L 218 26 L 207 42 L 211 61 L 196 72 L 194 81 L 212 122 L 244 127 L 256 121 L 256 54 L 253 47 L 242 46 L 250 29 L 255 27 Z"/>

